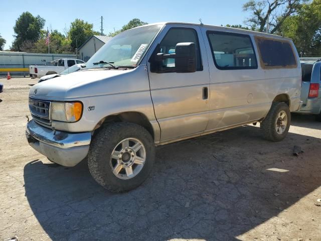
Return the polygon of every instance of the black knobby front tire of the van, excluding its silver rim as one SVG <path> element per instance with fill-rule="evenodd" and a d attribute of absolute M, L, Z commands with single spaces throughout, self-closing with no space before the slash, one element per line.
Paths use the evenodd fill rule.
<path fill-rule="evenodd" d="M 116 145 L 126 138 L 138 139 L 145 147 L 146 160 L 134 177 L 123 180 L 116 177 L 110 166 L 110 156 Z M 102 127 L 94 136 L 88 153 L 90 174 L 101 186 L 111 192 L 126 192 L 142 184 L 151 172 L 155 160 L 154 142 L 149 132 L 132 123 L 114 123 Z"/>

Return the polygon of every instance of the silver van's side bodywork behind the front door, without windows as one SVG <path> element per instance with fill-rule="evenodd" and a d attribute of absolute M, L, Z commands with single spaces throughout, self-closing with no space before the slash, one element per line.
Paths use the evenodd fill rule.
<path fill-rule="evenodd" d="M 208 30 L 215 31 L 216 28 L 203 28 L 204 36 Z M 257 69 L 219 70 L 213 56 L 209 56 L 211 103 L 208 131 L 264 118 L 278 94 L 289 96 L 291 110 L 299 107 L 300 69 L 263 70 L 253 35 L 250 37 Z M 205 40 L 205 44 L 207 52 L 212 54 L 209 41 Z"/>

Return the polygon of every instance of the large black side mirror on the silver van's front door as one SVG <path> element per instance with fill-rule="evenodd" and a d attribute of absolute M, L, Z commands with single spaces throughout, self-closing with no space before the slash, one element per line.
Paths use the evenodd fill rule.
<path fill-rule="evenodd" d="M 196 72 L 196 44 L 178 43 L 175 47 L 177 73 Z"/>

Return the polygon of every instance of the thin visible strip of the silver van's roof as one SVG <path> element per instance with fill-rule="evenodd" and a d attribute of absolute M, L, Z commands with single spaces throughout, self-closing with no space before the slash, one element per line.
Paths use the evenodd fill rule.
<path fill-rule="evenodd" d="M 252 35 L 263 36 L 263 37 L 265 36 L 265 37 L 268 37 L 268 38 L 277 38 L 277 39 L 292 40 L 292 39 L 287 38 L 287 37 L 283 37 L 283 36 L 279 36 L 279 35 L 275 35 L 275 34 L 261 33 L 261 32 L 252 31 L 252 30 L 237 29 L 237 28 L 217 26 L 217 25 L 186 23 L 186 22 L 159 22 L 159 23 L 152 23 L 152 24 L 147 24 L 147 25 L 143 25 L 143 26 L 150 26 L 150 25 L 167 25 L 167 24 L 197 25 L 197 26 L 201 26 L 201 27 L 212 28 L 213 30 L 220 30 L 220 29 L 221 29 L 221 30 L 227 30 L 227 31 L 230 30 L 230 31 L 237 32 L 237 33 L 252 34 Z M 143 26 L 139 26 L 139 27 L 136 27 L 136 28 L 140 28 L 140 27 L 143 27 Z"/>

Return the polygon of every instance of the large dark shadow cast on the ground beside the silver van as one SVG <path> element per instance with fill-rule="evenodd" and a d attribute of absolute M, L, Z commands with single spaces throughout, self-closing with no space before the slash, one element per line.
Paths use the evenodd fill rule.
<path fill-rule="evenodd" d="M 86 162 L 35 160 L 24 169 L 26 196 L 52 240 L 239 240 L 321 185 L 321 140 L 306 139 L 271 143 L 246 126 L 158 147 L 150 177 L 123 194 L 97 185 Z"/>

